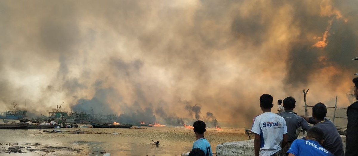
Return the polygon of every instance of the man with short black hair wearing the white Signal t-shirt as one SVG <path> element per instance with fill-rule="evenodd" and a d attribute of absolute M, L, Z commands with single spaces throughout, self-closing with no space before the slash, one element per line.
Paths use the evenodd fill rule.
<path fill-rule="evenodd" d="M 283 117 L 272 113 L 274 98 L 269 94 L 260 97 L 262 114 L 255 117 L 251 132 L 255 133 L 255 156 L 283 156 L 287 142 L 287 127 Z"/>

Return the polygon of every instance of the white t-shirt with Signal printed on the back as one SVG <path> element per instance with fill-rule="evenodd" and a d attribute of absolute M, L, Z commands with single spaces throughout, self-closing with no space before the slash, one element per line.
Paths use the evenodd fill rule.
<path fill-rule="evenodd" d="M 281 150 L 282 135 L 287 133 L 286 121 L 275 113 L 262 113 L 255 117 L 251 132 L 261 138 L 258 154 L 270 156 Z"/>

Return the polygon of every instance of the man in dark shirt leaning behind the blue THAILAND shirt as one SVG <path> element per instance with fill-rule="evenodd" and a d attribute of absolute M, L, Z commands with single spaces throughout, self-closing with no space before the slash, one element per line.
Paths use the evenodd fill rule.
<path fill-rule="evenodd" d="M 327 107 L 323 103 L 319 102 L 315 104 L 315 106 L 312 107 L 312 116 L 316 124 L 313 125 L 313 127 L 318 127 L 323 131 L 324 142 L 322 146 L 326 150 L 335 156 L 344 156 L 342 138 L 340 138 L 337 127 L 334 126 L 334 123 L 325 119 L 326 114 Z"/>

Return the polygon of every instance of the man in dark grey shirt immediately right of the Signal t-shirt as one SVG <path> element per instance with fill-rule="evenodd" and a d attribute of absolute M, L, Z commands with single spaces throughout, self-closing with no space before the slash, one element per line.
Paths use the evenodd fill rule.
<path fill-rule="evenodd" d="M 296 107 L 296 100 L 293 97 L 286 97 L 284 99 L 284 108 L 285 111 L 279 113 L 279 116 L 283 117 L 287 125 L 287 144 L 283 148 L 284 155 L 287 155 L 286 152 L 289 150 L 292 142 L 297 139 L 299 134 L 299 127 L 302 127 L 303 130 L 308 131 L 311 126 L 308 125 L 307 121 L 298 116 L 293 109 Z"/>

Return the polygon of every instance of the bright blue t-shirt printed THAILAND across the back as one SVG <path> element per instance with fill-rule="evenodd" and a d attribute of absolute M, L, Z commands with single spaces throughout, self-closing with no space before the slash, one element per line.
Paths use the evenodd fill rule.
<path fill-rule="evenodd" d="M 315 140 L 297 139 L 292 142 L 287 153 L 292 153 L 295 156 L 333 156 L 333 154 L 324 149 Z"/>

